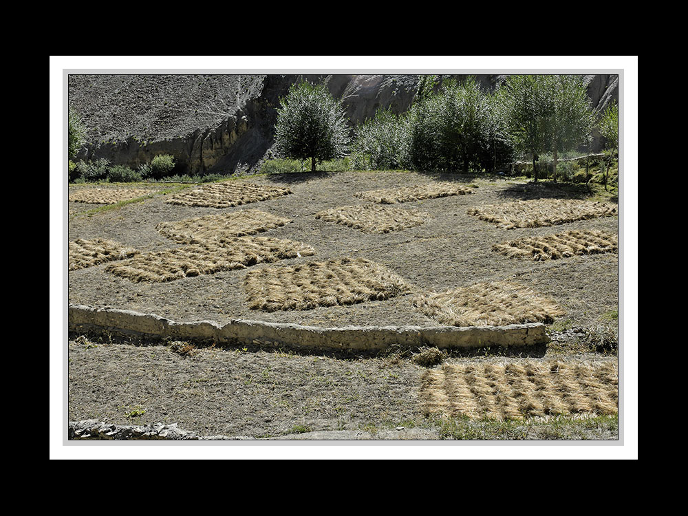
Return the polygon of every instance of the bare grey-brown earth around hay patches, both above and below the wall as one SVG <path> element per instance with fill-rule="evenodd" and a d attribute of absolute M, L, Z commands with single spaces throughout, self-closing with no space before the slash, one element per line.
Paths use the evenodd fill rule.
<path fill-rule="evenodd" d="M 618 309 L 615 253 L 533 261 L 510 259 L 492 251 L 495 244 L 504 241 L 563 230 L 617 233 L 617 217 L 506 230 L 466 213 L 481 204 L 577 197 L 565 188 L 479 180 L 474 183 L 479 187 L 471 195 L 396 204 L 420 209 L 429 213 L 429 218 L 420 226 L 382 235 L 314 217 L 328 208 L 367 204 L 354 197 L 358 191 L 437 180 L 464 185 L 469 182 L 452 175 L 318 173 L 248 178 L 247 182 L 288 187 L 294 193 L 233 208 L 176 206 L 166 204 L 166 196 L 158 195 L 88 217 L 78 213 L 93 205 L 69 203 L 69 241 L 101 237 L 142 252 L 171 249 L 181 244 L 155 230 L 160 222 L 259 209 L 292 220 L 261 236 L 301 241 L 316 250 L 312 257 L 167 283 L 133 283 L 105 272 L 105 265 L 94 266 L 69 272 L 69 302 L 152 312 L 175 321 L 210 319 L 226 323 L 244 318 L 321 326 L 437 324 L 413 308 L 411 295 L 313 310 L 264 312 L 248 308 L 243 284 L 250 270 L 360 257 L 376 261 L 409 283 L 434 292 L 482 281 L 517 281 L 558 303 L 565 314 L 555 322 L 566 321 L 568 327 L 603 321 L 605 314 Z M 80 187 L 70 187 L 70 193 Z M 579 347 L 570 345 L 572 338 L 570 334 L 558 335 L 546 349 L 527 352 L 526 356 L 530 360 L 554 355 L 563 360 L 587 356 L 590 360 L 616 361 L 615 356 L 581 354 Z M 336 358 L 215 348 L 194 350 L 191 356 L 182 357 L 166 345 L 138 346 L 104 340 L 69 342 L 69 420 L 176 422 L 180 428 L 201 435 L 254 438 L 321 430 L 366 431 L 375 436 L 378 431 L 397 427 L 413 428 L 413 438 L 421 439 L 618 438 L 613 419 L 575 424 L 568 420 L 449 424 L 426 418 L 420 406 L 420 385 L 427 369 L 409 357 Z M 484 357 L 452 356 L 449 363 L 517 359 L 489 352 Z"/>

